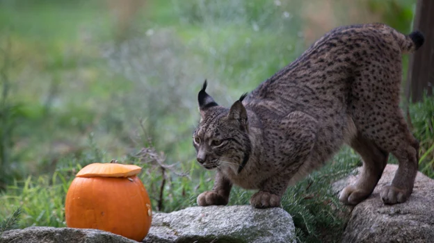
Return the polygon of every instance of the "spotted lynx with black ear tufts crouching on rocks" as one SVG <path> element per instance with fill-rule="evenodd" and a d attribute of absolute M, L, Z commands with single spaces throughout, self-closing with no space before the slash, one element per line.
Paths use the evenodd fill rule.
<path fill-rule="evenodd" d="M 389 153 L 399 169 L 380 198 L 405 202 L 417 174 L 419 142 L 399 108 L 401 54 L 423 43 L 419 31 L 403 35 L 385 24 L 335 28 L 230 108 L 205 92 L 205 81 L 193 145 L 200 165 L 216 169 L 216 178 L 198 205 L 226 205 L 238 185 L 259 190 L 250 199 L 255 208 L 279 207 L 289 185 L 343 144 L 360 154 L 363 167 L 358 181 L 341 191 L 341 202 L 355 205 L 373 192 Z"/>

